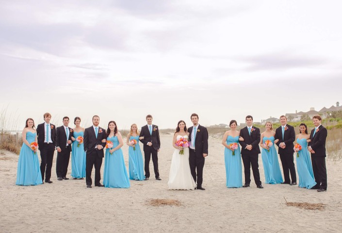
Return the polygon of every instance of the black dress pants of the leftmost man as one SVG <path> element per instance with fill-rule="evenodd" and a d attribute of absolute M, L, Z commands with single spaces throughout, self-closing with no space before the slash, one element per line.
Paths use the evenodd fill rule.
<path fill-rule="evenodd" d="M 44 143 L 42 148 L 39 148 L 40 157 L 42 159 L 40 163 L 40 172 L 42 173 L 42 180 L 45 181 L 50 180 L 51 178 L 51 168 L 52 168 L 52 160 L 53 154 L 55 153 L 55 145 L 53 143 Z"/>

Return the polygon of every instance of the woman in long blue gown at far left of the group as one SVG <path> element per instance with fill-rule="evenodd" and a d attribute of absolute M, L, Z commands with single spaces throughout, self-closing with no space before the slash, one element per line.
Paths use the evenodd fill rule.
<path fill-rule="evenodd" d="M 38 153 L 31 148 L 32 142 L 37 142 L 37 132 L 35 131 L 32 118 L 26 120 L 25 128 L 22 132 L 23 145 L 20 149 L 18 168 L 16 171 L 16 185 L 40 185 L 43 184 Z"/>

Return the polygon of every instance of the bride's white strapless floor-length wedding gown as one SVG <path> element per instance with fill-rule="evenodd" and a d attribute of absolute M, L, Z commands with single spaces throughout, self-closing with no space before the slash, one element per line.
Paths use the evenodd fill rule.
<path fill-rule="evenodd" d="M 178 135 L 177 140 L 182 136 Z M 188 138 L 188 136 L 184 136 Z M 184 148 L 184 155 L 179 155 L 179 149 L 175 149 L 172 155 L 169 182 L 169 189 L 195 189 L 195 181 L 191 175 L 189 165 L 189 148 Z"/>

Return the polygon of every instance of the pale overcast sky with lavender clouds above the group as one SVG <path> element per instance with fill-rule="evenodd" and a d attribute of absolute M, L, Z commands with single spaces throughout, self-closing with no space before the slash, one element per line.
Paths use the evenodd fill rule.
<path fill-rule="evenodd" d="M 0 0 L 0 107 L 52 122 L 255 122 L 342 103 L 342 3 Z M 70 126 L 73 126 L 71 124 Z"/>

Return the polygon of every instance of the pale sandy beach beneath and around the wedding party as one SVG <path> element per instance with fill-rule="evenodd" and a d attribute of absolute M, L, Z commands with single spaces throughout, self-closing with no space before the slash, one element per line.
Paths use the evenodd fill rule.
<path fill-rule="evenodd" d="M 70 179 L 58 181 L 56 154 L 52 184 L 16 186 L 18 155 L 0 151 L 0 232 L 341 232 L 342 161 L 327 159 L 328 188 L 322 193 L 264 184 L 261 155 L 259 170 L 264 189 L 258 189 L 253 178 L 248 188 L 227 188 L 224 146 L 221 139 L 211 138 L 203 176 L 206 190 L 168 190 L 171 142 L 172 135 L 161 135 L 162 181 L 154 179 L 151 160 L 150 179 L 130 181 L 128 189 L 86 188 L 85 180 L 70 177 L 71 159 Z M 128 146 L 122 149 L 128 168 Z M 326 207 L 300 209 L 286 205 L 284 198 L 288 202 L 323 203 Z M 181 205 L 152 206 L 148 202 L 151 199 L 173 199 Z"/>

